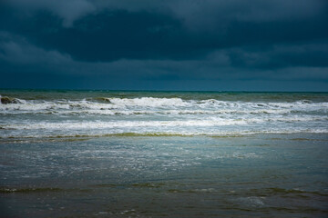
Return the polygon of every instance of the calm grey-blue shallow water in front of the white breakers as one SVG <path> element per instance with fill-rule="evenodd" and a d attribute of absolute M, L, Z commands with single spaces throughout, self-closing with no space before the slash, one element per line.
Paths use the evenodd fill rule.
<path fill-rule="evenodd" d="M 2 214 L 326 217 L 327 143 L 254 134 L 2 144 Z"/>

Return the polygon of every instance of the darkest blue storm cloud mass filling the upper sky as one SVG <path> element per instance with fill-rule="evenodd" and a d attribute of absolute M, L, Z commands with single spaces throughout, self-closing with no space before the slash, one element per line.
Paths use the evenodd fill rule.
<path fill-rule="evenodd" d="M 321 1 L 301 1 L 297 10 L 291 1 L 248 5 L 245 1 L 177 1 L 176 7 L 169 1 L 162 13 L 149 2 L 145 8 L 121 4 L 118 9 L 109 7 L 115 5 L 113 1 L 71 1 L 67 7 L 63 1 L 33 2 L 30 7 L 44 10 L 34 9 L 33 15 L 26 16 L 3 15 L 3 28 L 83 61 L 190 59 L 227 47 L 328 37 L 328 13 Z M 271 9 L 271 5 L 279 6 Z"/>

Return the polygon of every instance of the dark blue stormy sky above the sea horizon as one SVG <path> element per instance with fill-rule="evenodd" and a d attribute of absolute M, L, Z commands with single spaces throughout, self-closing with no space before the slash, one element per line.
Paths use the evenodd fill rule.
<path fill-rule="evenodd" d="M 3 0 L 0 88 L 328 91 L 327 0 Z"/>

